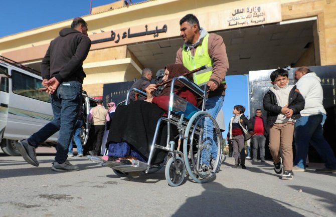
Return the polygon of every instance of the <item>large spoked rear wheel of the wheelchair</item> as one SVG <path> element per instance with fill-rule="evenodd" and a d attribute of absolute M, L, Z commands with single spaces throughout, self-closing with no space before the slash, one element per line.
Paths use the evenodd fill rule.
<path fill-rule="evenodd" d="M 207 170 L 203 169 L 201 162 L 202 150 L 206 146 L 202 139 L 205 120 L 213 123 L 213 139 L 217 144 L 217 159 L 213 165 L 209 162 Z M 205 111 L 195 113 L 188 122 L 184 137 L 183 153 L 189 175 L 197 183 L 209 181 L 215 176 L 222 162 L 222 133 L 216 120 Z"/>

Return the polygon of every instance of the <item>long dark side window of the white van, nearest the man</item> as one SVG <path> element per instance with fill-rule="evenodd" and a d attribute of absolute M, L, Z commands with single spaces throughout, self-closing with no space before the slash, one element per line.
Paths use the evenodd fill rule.
<path fill-rule="evenodd" d="M 50 95 L 42 92 L 42 80 L 12 70 L 13 93 L 50 103 Z"/>

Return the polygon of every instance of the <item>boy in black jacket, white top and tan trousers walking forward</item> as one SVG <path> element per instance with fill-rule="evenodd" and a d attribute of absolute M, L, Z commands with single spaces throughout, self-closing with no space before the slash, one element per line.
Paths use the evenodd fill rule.
<path fill-rule="evenodd" d="M 273 157 L 274 171 L 283 174 L 282 179 L 294 177 L 293 167 L 293 133 L 294 123 L 304 108 L 304 99 L 294 85 L 288 85 L 288 71 L 277 69 L 271 73 L 272 85 L 263 99 L 267 111 L 269 126 L 269 149 Z M 282 158 L 280 157 L 280 149 Z"/>

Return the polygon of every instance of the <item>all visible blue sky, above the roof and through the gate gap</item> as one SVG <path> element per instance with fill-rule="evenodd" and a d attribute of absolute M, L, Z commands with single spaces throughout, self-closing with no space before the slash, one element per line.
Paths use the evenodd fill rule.
<path fill-rule="evenodd" d="M 92 7 L 113 3 L 113 0 L 92 0 Z M 143 2 L 133 0 L 133 3 Z M 13 0 L 2 1 L 0 13 L 0 38 L 49 24 L 73 19 L 88 15 L 90 11 L 90 0 Z M 230 54 L 228 54 L 230 56 Z M 243 105 L 246 108 L 245 115 L 248 115 L 248 91 L 247 76 L 228 76 L 226 82 L 228 89 L 224 100 L 224 116 L 226 137 L 232 110 L 235 105 Z"/>

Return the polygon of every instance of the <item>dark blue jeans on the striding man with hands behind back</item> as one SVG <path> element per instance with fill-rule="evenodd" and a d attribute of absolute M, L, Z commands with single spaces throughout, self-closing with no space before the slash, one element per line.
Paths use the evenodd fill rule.
<path fill-rule="evenodd" d="M 64 163 L 68 158 L 68 148 L 81 102 L 82 84 L 80 82 L 70 81 L 61 83 L 51 95 L 54 120 L 30 136 L 28 138 L 29 143 L 37 147 L 51 135 L 60 131 L 56 146 L 55 161 Z"/>

